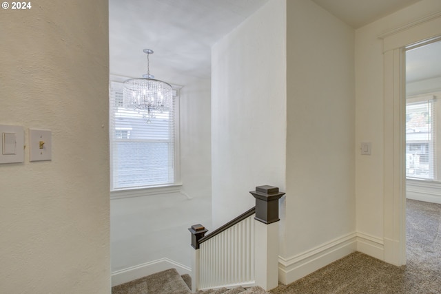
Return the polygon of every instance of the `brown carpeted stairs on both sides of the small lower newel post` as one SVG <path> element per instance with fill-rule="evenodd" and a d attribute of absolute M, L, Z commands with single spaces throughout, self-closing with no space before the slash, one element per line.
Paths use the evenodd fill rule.
<path fill-rule="evenodd" d="M 147 277 L 112 287 L 112 294 L 191 294 L 192 277 L 179 275 L 176 269 L 167 269 Z M 218 288 L 198 291 L 196 294 L 267 294 L 258 286 L 252 288 Z"/>

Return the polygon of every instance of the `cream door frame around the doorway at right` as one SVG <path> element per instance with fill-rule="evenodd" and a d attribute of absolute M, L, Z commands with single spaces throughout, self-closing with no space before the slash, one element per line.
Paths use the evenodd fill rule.
<path fill-rule="evenodd" d="M 384 261 L 406 264 L 405 48 L 441 36 L 441 12 L 380 36 L 384 54 Z"/>

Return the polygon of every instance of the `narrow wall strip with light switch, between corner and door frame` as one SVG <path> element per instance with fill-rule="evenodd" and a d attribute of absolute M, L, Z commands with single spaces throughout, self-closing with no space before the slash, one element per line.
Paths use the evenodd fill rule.
<path fill-rule="evenodd" d="M 422 0 L 413 6 L 356 30 L 356 146 L 371 142 L 371 156 L 356 150 L 357 231 L 375 244 L 358 250 L 383 259 L 384 245 L 384 112 L 383 41 L 378 36 L 422 17 L 441 11 L 438 0 Z"/>

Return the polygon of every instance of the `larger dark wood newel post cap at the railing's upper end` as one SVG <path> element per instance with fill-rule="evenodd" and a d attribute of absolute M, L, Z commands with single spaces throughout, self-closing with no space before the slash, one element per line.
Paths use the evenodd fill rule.
<path fill-rule="evenodd" d="M 278 187 L 269 185 L 258 186 L 256 191 L 250 191 L 256 198 L 256 217 L 254 219 L 264 224 L 278 222 L 278 200 L 285 193 L 279 192 Z"/>

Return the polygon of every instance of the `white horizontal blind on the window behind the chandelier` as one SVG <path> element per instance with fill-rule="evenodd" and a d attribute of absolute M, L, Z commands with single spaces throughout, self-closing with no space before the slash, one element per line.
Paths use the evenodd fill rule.
<path fill-rule="evenodd" d="M 172 185 L 176 182 L 175 109 L 143 114 L 123 105 L 123 83 L 110 83 L 111 190 Z"/>

